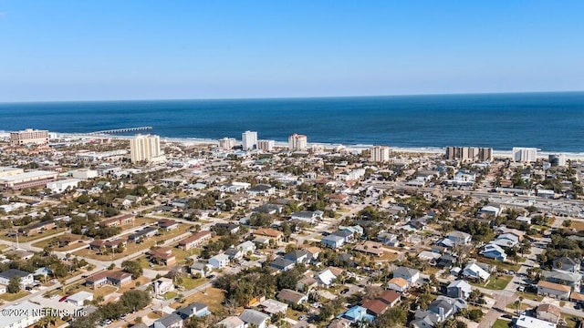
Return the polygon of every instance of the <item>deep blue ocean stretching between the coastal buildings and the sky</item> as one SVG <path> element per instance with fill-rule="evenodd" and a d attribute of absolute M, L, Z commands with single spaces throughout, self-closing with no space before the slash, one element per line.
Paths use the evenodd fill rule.
<path fill-rule="evenodd" d="M 584 92 L 1 103 L 0 130 L 152 126 L 171 138 L 258 138 L 394 147 L 514 146 L 584 151 Z"/>

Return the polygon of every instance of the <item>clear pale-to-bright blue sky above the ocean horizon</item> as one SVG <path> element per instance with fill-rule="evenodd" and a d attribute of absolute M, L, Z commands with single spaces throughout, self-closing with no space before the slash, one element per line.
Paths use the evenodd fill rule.
<path fill-rule="evenodd" d="M 0 101 L 562 90 L 582 0 L 0 0 Z"/>

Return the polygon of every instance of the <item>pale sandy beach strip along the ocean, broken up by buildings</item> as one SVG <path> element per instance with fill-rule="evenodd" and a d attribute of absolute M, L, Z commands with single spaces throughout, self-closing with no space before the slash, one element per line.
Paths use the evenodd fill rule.
<path fill-rule="evenodd" d="M 62 133 L 62 132 L 50 132 L 53 136 L 57 138 L 118 138 L 118 139 L 130 139 L 133 136 L 121 136 L 121 135 L 89 135 L 85 133 Z M 0 137 L 6 138 L 9 137 L 9 132 L 7 131 L 0 131 Z M 218 139 L 212 138 L 172 138 L 172 137 L 163 137 L 160 136 L 162 142 L 175 142 L 181 143 L 185 146 L 191 145 L 218 145 Z M 285 141 L 274 141 L 276 148 L 286 148 L 287 142 Z M 236 139 L 236 144 L 241 145 L 241 140 Z M 328 142 L 308 142 L 308 147 L 312 146 L 320 146 L 325 149 L 337 148 L 337 147 L 344 147 L 345 149 L 349 150 L 363 150 L 363 149 L 370 149 L 373 146 L 380 146 L 380 145 L 373 145 L 373 144 L 339 144 L 339 143 L 328 143 Z M 398 153 L 411 153 L 411 154 L 427 154 L 427 155 L 437 155 L 443 154 L 445 151 L 445 147 L 397 147 L 391 145 L 381 145 L 381 146 L 388 146 L 392 152 Z M 566 159 L 576 159 L 576 160 L 584 160 L 584 152 L 569 152 L 569 151 L 550 151 L 550 150 L 540 150 L 537 149 L 537 158 L 538 159 L 547 159 L 548 155 L 552 154 L 562 154 L 566 156 Z M 512 150 L 504 150 L 504 149 L 493 149 L 493 158 L 499 159 L 510 159 L 512 158 Z"/>

